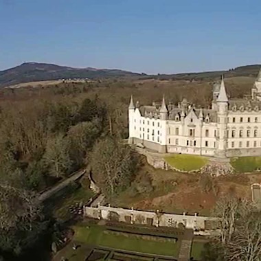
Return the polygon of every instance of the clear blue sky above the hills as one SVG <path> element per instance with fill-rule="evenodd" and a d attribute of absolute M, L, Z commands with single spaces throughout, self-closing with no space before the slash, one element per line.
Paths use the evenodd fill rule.
<path fill-rule="evenodd" d="M 0 0 L 0 70 L 145 73 L 261 63 L 261 0 Z"/>

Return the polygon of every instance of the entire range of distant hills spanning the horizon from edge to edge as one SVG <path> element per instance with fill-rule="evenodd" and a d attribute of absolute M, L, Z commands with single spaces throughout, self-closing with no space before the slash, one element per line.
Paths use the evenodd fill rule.
<path fill-rule="evenodd" d="M 47 63 L 23 63 L 22 65 L 0 71 L 0 88 L 23 82 L 58 80 L 73 78 L 136 78 L 157 80 L 216 80 L 223 74 L 225 78 L 250 76 L 256 77 L 261 65 L 245 65 L 227 71 L 205 71 L 196 73 L 146 75 L 120 69 L 73 68 Z"/>

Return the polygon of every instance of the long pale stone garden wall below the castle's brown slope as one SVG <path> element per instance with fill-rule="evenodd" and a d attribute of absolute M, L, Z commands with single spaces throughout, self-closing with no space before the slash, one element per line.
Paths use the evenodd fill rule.
<path fill-rule="evenodd" d="M 177 215 L 98 206 L 84 207 L 84 216 L 130 224 L 152 225 L 155 227 L 185 227 L 187 229 L 194 229 L 198 234 L 203 234 L 200 231 L 206 232 L 218 228 L 218 218 L 196 216 L 196 214 L 195 216 L 187 216 L 185 214 Z"/>

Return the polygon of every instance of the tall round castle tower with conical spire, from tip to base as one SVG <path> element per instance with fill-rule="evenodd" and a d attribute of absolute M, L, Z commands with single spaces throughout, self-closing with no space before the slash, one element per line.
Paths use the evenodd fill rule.
<path fill-rule="evenodd" d="M 225 82 L 222 77 L 220 84 L 220 92 L 216 99 L 217 116 L 218 116 L 218 139 L 216 147 L 216 157 L 225 158 L 227 148 L 227 111 L 228 111 L 228 98 L 225 90 Z"/>

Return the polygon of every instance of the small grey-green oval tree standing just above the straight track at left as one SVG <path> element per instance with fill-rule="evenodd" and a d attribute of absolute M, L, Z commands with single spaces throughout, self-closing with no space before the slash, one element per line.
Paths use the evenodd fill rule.
<path fill-rule="evenodd" d="M 62 177 L 71 170 L 71 159 L 69 157 L 68 140 L 61 134 L 49 139 L 46 146 L 45 163 L 49 171 L 56 177 Z"/>

